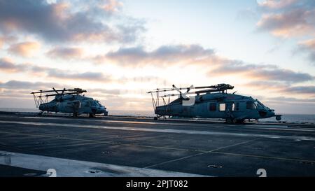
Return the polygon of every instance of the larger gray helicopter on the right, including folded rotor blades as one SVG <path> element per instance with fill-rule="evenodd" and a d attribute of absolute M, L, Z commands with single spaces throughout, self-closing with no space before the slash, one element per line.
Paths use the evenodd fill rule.
<path fill-rule="evenodd" d="M 229 94 L 234 86 L 218 84 L 202 87 L 176 87 L 156 89 L 151 94 L 154 112 L 160 117 L 183 117 L 183 118 L 223 118 L 229 123 L 241 123 L 244 120 L 276 117 L 281 120 L 281 115 L 276 115 L 273 109 L 262 104 L 258 99 L 239 94 Z M 195 92 L 190 92 L 194 90 Z M 186 90 L 186 92 L 181 92 Z M 178 94 L 163 94 L 177 91 Z M 188 94 L 194 94 L 188 97 Z M 179 96 L 170 101 L 170 97 Z M 162 106 L 160 106 L 162 103 Z"/>

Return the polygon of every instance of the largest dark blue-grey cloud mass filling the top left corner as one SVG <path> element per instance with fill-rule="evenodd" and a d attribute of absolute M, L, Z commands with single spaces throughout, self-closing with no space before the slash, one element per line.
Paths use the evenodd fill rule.
<path fill-rule="evenodd" d="M 0 31 L 35 34 L 49 42 L 127 43 L 127 39 L 137 39 L 137 36 L 125 38 L 124 31 L 110 24 L 108 11 L 100 6 L 106 2 L 111 3 L 108 9 L 116 10 L 114 1 L 1 0 Z M 142 27 L 130 29 L 134 35 L 143 30 Z"/>

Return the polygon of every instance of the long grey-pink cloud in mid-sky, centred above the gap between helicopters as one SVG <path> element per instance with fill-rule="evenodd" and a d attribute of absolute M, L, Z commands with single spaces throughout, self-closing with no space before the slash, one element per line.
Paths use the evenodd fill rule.
<path fill-rule="evenodd" d="M 143 64 L 162 65 L 193 62 L 211 55 L 214 55 L 214 50 L 204 49 L 200 45 L 162 45 L 153 51 L 146 51 L 143 47 L 120 48 L 117 51 L 108 52 L 104 56 L 94 57 L 94 62 L 111 61 L 130 66 Z"/>

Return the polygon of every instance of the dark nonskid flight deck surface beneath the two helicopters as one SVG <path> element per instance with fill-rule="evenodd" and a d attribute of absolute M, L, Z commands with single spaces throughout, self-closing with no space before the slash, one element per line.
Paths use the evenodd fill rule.
<path fill-rule="evenodd" d="M 265 169 L 267 176 L 315 176 L 312 127 L 0 115 L 0 174 L 258 176 Z"/>

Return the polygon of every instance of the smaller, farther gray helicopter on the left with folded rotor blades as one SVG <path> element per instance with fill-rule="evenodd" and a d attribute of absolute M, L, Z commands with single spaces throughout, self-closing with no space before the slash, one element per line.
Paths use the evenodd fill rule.
<path fill-rule="evenodd" d="M 95 117 L 96 114 L 108 115 L 106 108 L 99 103 L 99 101 L 92 99 L 92 97 L 85 97 L 83 94 L 86 90 L 80 88 L 63 90 L 39 90 L 38 92 L 31 92 L 34 96 L 36 108 L 41 110 L 39 115 L 44 111 L 56 112 L 56 113 L 72 113 L 73 117 L 77 117 L 80 114 L 89 114 L 90 117 Z M 48 94 L 43 94 L 48 93 Z M 50 94 L 49 94 L 50 93 Z M 55 96 L 48 102 L 48 97 Z"/>

